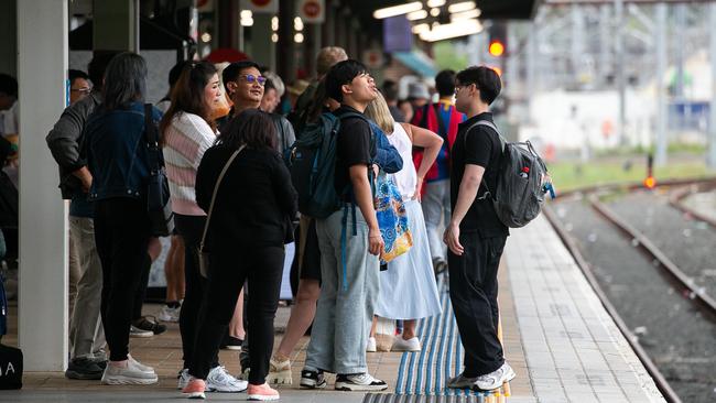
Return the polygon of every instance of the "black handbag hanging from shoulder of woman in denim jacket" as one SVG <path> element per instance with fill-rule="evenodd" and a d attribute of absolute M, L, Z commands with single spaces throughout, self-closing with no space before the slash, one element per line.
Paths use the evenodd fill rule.
<path fill-rule="evenodd" d="M 149 179 L 147 182 L 147 213 L 153 237 L 169 237 L 174 230 L 174 213 L 170 199 L 164 157 L 159 148 L 156 127 L 152 122 L 152 105 L 144 105 L 144 133 L 149 148 Z"/>

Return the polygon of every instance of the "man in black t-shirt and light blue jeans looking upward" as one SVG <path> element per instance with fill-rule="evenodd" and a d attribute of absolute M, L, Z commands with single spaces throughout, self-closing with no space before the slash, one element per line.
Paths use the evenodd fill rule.
<path fill-rule="evenodd" d="M 335 187 L 344 207 L 316 219 L 321 248 L 321 297 L 301 372 L 301 386 L 325 388 L 323 371 L 335 372 L 336 390 L 382 391 L 386 382 L 368 373 L 366 347 L 379 292 L 378 255 L 383 240 L 373 208 L 368 170 L 376 156 L 370 126 L 362 115 L 378 89 L 366 66 L 348 59 L 325 78 L 327 95 L 344 117 L 336 137 Z M 346 188 L 350 192 L 344 193 Z"/>

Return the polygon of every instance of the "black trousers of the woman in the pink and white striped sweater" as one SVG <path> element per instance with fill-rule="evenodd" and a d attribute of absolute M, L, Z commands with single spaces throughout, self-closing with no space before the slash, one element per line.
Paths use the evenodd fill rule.
<path fill-rule="evenodd" d="M 207 280 L 199 272 L 198 248 L 204 232 L 205 216 L 174 215 L 176 231 L 184 239 L 184 303 L 180 312 L 180 333 L 184 368 L 189 368 L 194 356 L 199 312 L 206 293 Z M 210 361 L 210 368 L 219 364 L 218 351 Z"/>

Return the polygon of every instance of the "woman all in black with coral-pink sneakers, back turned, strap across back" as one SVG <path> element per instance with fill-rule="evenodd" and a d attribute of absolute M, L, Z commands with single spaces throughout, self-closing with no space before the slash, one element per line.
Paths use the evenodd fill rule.
<path fill-rule="evenodd" d="M 196 173 L 196 202 L 208 213 L 219 175 L 231 155 L 208 218 L 206 249 L 209 280 L 194 358 L 189 397 L 204 395 L 204 379 L 217 353 L 239 291 L 248 280 L 251 339 L 250 400 L 276 400 L 265 383 L 273 349 L 273 318 L 279 306 L 286 235 L 293 232 L 297 195 L 281 156 L 274 151 L 276 132 L 271 118 L 247 109 L 206 151 Z"/>

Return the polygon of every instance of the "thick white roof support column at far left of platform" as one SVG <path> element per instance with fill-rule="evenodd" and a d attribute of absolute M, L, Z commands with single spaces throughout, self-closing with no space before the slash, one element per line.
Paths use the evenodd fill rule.
<path fill-rule="evenodd" d="M 45 135 L 65 108 L 67 0 L 18 1 L 19 341 L 26 371 L 67 366 L 67 220 Z"/>

